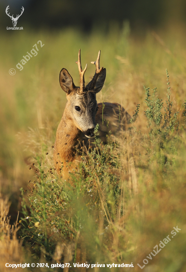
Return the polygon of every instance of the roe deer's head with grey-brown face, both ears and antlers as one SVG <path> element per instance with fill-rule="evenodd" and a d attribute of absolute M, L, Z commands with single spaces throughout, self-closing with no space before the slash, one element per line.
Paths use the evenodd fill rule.
<path fill-rule="evenodd" d="M 81 130 L 85 136 L 91 138 L 94 136 L 95 114 L 97 112 L 96 93 L 101 91 L 105 77 L 106 69 L 99 68 L 100 51 L 97 60 L 92 62 L 95 64 L 96 70 L 92 81 L 85 87 L 84 74 L 87 70 L 87 65 L 84 70 L 81 67 L 81 49 L 78 54 L 80 87 L 74 85 L 73 79 L 66 69 L 62 69 L 59 74 L 59 83 L 63 91 L 66 92 L 67 104 L 66 114 L 71 119 L 73 124 Z"/>

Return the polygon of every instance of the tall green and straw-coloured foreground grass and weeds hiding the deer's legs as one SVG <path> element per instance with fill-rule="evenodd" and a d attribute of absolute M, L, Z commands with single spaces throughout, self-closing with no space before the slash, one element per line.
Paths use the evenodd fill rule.
<path fill-rule="evenodd" d="M 81 163 L 69 173 L 69 182 L 56 175 L 43 142 L 32 165 L 35 181 L 26 194 L 22 190 L 23 207 L 27 201 L 31 204 L 30 212 L 23 210 L 24 218 L 30 216 L 30 220 L 23 220 L 22 236 L 35 244 L 32 254 L 40 256 L 44 248 L 50 259 L 58 244 L 70 246 L 68 261 L 65 250 L 58 261 L 105 266 L 134 263 L 138 271 L 137 263 L 142 267 L 146 255 L 173 227 L 185 229 L 185 126 L 178 121 L 179 113 L 172 112 L 168 72 L 167 81 L 165 102 L 156 89 L 152 94 L 144 89 L 147 132 L 133 125 L 118 143 L 108 134 L 105 146 L 97 135 L 92 152 L 85 156 L 80 151 Z M 167 105 L 164 114 L 163 104 Z M 132 123 L 139 112 L 138 106 Z M 159 258 L 149 262 L 149 269 L 169 271 L 168 258 L 175 266 L 172 271 L 184 271 L 184 237 L 181 231 Z M 179 261 L 174 261 L 175 251 Z"/>

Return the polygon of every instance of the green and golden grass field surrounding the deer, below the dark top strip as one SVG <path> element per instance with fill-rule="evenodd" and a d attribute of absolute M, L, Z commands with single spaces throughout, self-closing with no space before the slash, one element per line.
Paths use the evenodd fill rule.
<path fill-rule="evenodd" d="M 122 32 L 112 30 L 107 36 L 96 32 L 86 37 L 68 29 L 4 37 L 1 186 L 6 181 L 6 188 L 2 187 L 6 193 L 23 187 L 22 219 L 17 226 L 30 258 L 105 266 L 133 263 L 130 269 L 141 271 L 137 263 L 142 266 L 153 247 L 178 226 L 181 231 L 148 259 L 143 271 L 185 271 L 186 50 L 182 36 L 176 40 L 171 31 L 160 36 L 149 32 L 139 40 L 130 36 L 125 24 Z M 44 47 L 18 71 L 16 64 L 38 40 Z M 81 154 L 79 168 L 70 174 L 72 186 L 56 175 L 51 146 L 66 101 L 58 73 L 65 67 L 78 85 L 75 61 L 80 47 L 83 66 L 95 60 L 101 49 L 100 65 L 107 68 L 107 76 L 98 102 L 119 102 L 134 116 L 117 143 L 108 134 L 103 146 L 97 136 L 99 152 L 87 154 L 89 160 Z M 87 82 L 94 72 L 91 67 Z M 10 68 L 16 69 L 14 76 L 8 74 Z M 171 85 L 169 78 L 166 82 L 166 68 Z"/>

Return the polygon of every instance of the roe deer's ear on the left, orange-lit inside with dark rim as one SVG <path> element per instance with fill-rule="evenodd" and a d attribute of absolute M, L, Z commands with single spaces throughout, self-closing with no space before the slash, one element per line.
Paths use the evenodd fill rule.
<path fill-rule="evenodd" d="M 71 75 L 65 68 L 63 68 L 59 74 L 59 83 L 62 90 L 65 91 L 67 94 L 74 91 L 74 89 L 76 88 Z"/>

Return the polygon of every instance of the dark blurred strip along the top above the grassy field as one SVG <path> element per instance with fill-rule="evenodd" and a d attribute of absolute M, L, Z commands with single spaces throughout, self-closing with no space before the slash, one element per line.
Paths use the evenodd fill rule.
<path fill-rule="evenodd" d="M 1 0 L 2 30 L 9 22 L 4 15 L 7 5 L 10 5 L 10 13 L 14 15 L 24 6 L 25 13 L 20 20 L 25 27 L 35 31 L 73 27 L 88 33 L 98 27 L 105 33 L 110 25 L 122 27 L 123 21 L 128 20 L 132 31 L 141 34 L 149 28 L 186 23 L 185 0 Z"/>

